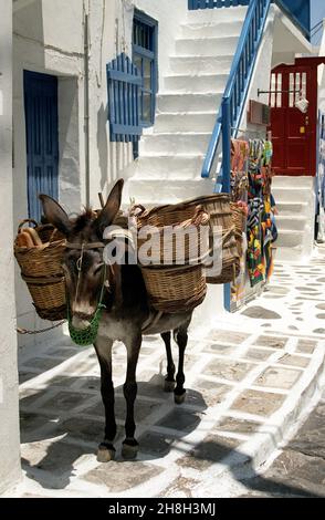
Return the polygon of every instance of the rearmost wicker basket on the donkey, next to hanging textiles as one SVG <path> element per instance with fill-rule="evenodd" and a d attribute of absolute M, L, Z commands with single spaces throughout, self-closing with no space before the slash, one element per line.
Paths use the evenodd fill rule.
<path fill-rule="evenodd" d="M 235 223 L 230 206 L 230 196 L 228 194 L 207 195 L 188 200 L 185 204 L 200 204 L 209 214 L 211 248 L 213 247 L 213 228 L 214 232 L 216 228 L 220 230 L 220 239 L 222 240 L 222 269 L 218 275 L 209 275 L 209 269 L 207 269 L 207 283 L 229 283 L 234 281 L 240 272 L 240 252 L 235 239 Z"/>

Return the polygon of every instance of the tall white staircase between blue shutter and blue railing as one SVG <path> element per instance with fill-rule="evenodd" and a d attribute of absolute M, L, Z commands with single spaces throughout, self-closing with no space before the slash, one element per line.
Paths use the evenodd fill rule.
<path fill-rule="evenodd" d="M 188 11 L 157 95 L 155 126 L 125 171 L 125 201 L 145 206 L 211 194 L 201 167 L 247 8 Z"/>

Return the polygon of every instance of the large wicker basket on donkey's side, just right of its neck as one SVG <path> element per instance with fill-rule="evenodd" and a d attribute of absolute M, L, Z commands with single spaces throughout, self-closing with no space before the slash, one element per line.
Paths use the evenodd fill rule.
<path fill-rule="evenodd" d="M 201 206 L 188 207 L 184 204 L 160 206 L 137 217 L 139 258 L 140 248 L 146 242 L 146 237 L 140 233 L 145 226 L 153 227 L 150 240 L 160 246 L 151 251 L 150 266 L 140 262 L 149 302 L 157 311 L 187 312 L 205 300 L 207 284 L 201 259 L 209 251 L 209 233 L 206 231 L 201 235 L 201 231 L 207 230 L 209 216 Z M 170 239 L 164 235 L 164 230 L 166 232 L 170 226 L 176 233 L 186 231 L 182 263 L 178 263 L 175 236 Z"/>

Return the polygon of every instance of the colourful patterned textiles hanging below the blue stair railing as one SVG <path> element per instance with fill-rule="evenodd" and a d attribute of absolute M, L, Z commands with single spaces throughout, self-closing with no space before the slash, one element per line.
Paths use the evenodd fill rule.
<path fill-rule="evenodd" d="M 244 303 L 251 288 L 270 280 L 276 227 L 272 184 L 271 139 L 231 141 L 231 199 L 237 230 L 240 273 L 231 285 L 232 304 Z M 243 231 L 243 233 L 241 233 Z"/>

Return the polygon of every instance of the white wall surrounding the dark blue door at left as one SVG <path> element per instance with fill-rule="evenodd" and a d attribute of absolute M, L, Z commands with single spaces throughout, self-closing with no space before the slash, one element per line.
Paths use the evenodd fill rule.
<path fill-rule="evenodd" d="M 53 23 L 55 20 L 55 23 Z M 60 27 L 60 31 L 57 28 Z M 54 74 L 59 79 L 60 200 L 69 211 L 84 201 L 83 139 L 83 3 L 34 0 L 13 17 L 13 230 L 28 217 L 23 71 Z M 44 326 L 15 264 L 17 315 L 20 326 Z M 60 337 L 60 329 L 49 334 Z M 20 336 L 24 346 L 46 341 L 46 335 Z"/>

